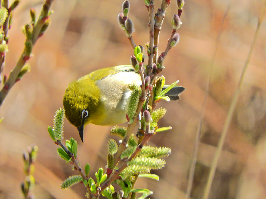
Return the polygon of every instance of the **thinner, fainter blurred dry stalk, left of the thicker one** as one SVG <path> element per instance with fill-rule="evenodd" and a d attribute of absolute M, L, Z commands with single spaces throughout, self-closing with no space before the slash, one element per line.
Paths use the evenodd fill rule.
<path fill-rule="evenodd" d="M 189 199 L 189 197 L 190 197 L 192 184 L 193 184 L 194 171 L 195 171 L 195 166 L 196 166 L 196 162 L 197 162 L 198 148 L 199 148 L 199 143 L 200 143 L 201 127 L 202 127 L 204 114 L 205 114 L 205 106 L 206 106 L 207 96 L 209 94 L 209 86 L 210 86 L 211 74 L 212 74 L 213 66 L 214 66 L 214 59 L 216 57 L 218 43 L 219 43 L 219 39 L 220 39 L 221 33 L 222 33 L 222 27 L 223 27 L 223 24 L 225 22 L 225 17 L 226 17 L 226 15 L 228 13 L 230 5 L 231 5 L 231 0 L 228 0 L 227 6 L 226 6 L 226 9 L 225 9 L 225 14 L 223 15 L 223 19 L 222 19 L 222 24 L 221 24 L 221 26 L 219 28 L 218 35 L 216 37 L 215 50 L 214 50 L 214 54 L 213 54 L 213 57 L 212 57 L 212 60 L 211 60 L 211 63 L 210 63 L 209 73 L 208 73 L 207 82 L 206 82 L 205 96 L 204 96 L 204 100 L 203 100 L 203 103 L 202 103 L 202 106 L 201 106 L 201 115 L 200 115 L 200 120 L 199 120 L 199 123 L 198 123 L 197 132 L 196 132 L 193 159 L 192 159 L 192 164 L 191 164 L 191 168 L 190 168 L 190 171 L 189 171 L 188 187 L 187 187 L 187 190 L 186 190 L 186 198 L 187 199 Z"/>

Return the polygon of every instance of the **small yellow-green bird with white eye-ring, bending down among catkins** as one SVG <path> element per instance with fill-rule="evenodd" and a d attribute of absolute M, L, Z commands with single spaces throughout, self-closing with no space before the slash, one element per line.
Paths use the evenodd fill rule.
<path fill-rule="evenodd" d="M 82 142 L 88 123 L 111 126 L 127 121 L 130 83 L 141 85 L 140 75 L 131 65 L 120 65 L 93 71 L 68 85 L 63 98 L 65 115 L 77 127 Z M 184 89 L 175 86 L 165 95 L 179 99 Z"/>

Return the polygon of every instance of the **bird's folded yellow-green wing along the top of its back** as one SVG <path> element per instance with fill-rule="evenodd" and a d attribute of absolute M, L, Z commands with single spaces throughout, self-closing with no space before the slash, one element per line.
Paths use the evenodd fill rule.
<path fill-rule="evenodd" d="M 131 65 L 119 65 L 114 67 L 108 68 L 101 68 L 99 70 L 93 71 L 89 74 L 89 78 L 91 80 L 101 80 L 102 78 L 106 77 L 107 75 L 114 75 L 118 72 L 126 72 L 126 71 L 134 71 L 133 66 Z"/>

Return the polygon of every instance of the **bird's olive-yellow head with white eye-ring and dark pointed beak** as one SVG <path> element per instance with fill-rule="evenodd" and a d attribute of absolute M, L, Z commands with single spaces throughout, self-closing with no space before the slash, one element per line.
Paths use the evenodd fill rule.
<path fill-rule="evenodd" d="M 66 118 L 77 127 L 82 142 L 84 126 L 92 120 L 100 98 L 99 88 L 85 77 L 70 83 L 63 98 Z"/>

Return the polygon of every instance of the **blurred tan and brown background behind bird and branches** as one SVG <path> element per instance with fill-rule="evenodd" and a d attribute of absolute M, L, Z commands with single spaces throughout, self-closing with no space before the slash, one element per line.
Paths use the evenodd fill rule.
<path fill-rule="evenodd" d="M 4 73 L 9 74 L 19 58 L 25 36 L 20 27 L 30 22 L 29 9 L 39 13 L 44 1 L 24 0 L 14 12 L 9 32 L 9 53 Z M 259 0 L 232 0 L 218 43 L 210 91 L 207 97 L 192 198 L 201 198 L 209 166 L 218 143 L 226 113 L 257 25 Z M 134 22 L 136 44 L 148 41 L 148 14 L 144 1 L 130 1 L 129 18 Z M 160 102 L 167 109 L 160 126 L 172 130 L 157 133 L 150 145 L 166 146 L 172 154 L 166 166 L 153 173 L 160 181 L 139 179 L 136 188 L 153 191 L 150 198 L 185 198 L 194 141 L 205 94 L 205 85 L 216 37 L 227 1 L 186 0 L 178 29 L 180 42 L 168 54 L 160 74 L 166 83 L 180 80 L 187 90 L 177 102 Z M 1 106 L 0 116 L 0 198 L 22 198 L 24 180 L 22 152 L 26 146 L 39 147 L 34 177 L 36 198 L 85 198 L 83 185 L 61 190 L 60 183 L 77 174 L 59 157 L 57 146 L 47 132 L 70 81 L 102 67 L 129 64 L 132 48 L 117 23 L 122 0 L 63 1 L 52 4 L 52 24 L 34 46 L 32 69 L 16 83 Z M 155 9 L 160 1 L 155 0 Z M 166 46 L 177 13 L 174 0 L 167 9 L 160 34 L 159 53 Z M 209 198 L 266 198 L 266 22 L 261 30 L 244 78 L 241 96 L 218 162 Z M 106 165 L 106 143 L 110 127 L 89 124 L 84 144 L 77 129 L 65 120 L 64 137 L 78 141 L 78 157 L 91 175 Z"/>

